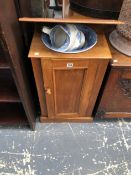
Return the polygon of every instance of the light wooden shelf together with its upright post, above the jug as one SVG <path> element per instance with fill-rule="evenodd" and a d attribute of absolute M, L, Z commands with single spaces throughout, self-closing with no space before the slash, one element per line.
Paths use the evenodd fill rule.
<path fill-rule="evenodd" d="M 62 6 L 62 18 L 31 18 L 23 17 L 19 18 L 22 22 L 44 22 L 44 23 L 84 23 L 84 24 L 124 24 L 124 22 L 119 20 L 111 19 L 98 19 L 93 17 L 88 17 L 74 12 L 70 9 L 70 2 L 68 0 L 63 0 Z"/>

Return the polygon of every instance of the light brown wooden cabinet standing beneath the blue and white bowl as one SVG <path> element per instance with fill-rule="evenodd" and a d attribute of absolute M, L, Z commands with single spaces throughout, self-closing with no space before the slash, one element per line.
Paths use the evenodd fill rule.
<path fill-rule="evenodd" d="M 95 47 L 79 54 L 49 50 L 36 32 L 29 57 L 38 89 L 41 121 L 92 121 L 92 111 L 111 59 L 103 32 L 98 32 Z"/>

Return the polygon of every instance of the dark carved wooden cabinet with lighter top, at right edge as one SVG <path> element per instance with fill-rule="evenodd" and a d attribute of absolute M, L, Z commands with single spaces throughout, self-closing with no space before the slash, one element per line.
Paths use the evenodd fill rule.
<path fill-rule="evenodd" d="M 111 48 L 113 61 L 103 84 L 96 117 L 131 117 L 131 58 Z"/>

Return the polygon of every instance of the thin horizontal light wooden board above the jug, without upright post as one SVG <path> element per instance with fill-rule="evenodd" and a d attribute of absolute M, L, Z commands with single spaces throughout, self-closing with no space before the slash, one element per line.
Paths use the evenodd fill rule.
<path fill-rule="evenodd" d="M 45 23 L 83 23 L 83 24 L 124 24 L 122 21 L 118 20 L 110 20 L 110 19 L 97 19 L 92 17 L 82 17 L 77 18 L 77 16 L 73 15 L 70 18 L 29 18 L 23 17 L 19 18 L 19 21 L 22 22 L 45 22 Z"/>

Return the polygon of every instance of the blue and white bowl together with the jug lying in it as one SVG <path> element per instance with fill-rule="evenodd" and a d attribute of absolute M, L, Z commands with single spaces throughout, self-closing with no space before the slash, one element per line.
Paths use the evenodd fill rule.
<path fill-rule="evenodd" d="M 43 26 L 42 42 L 51 50 L 61 53 L 79 53 L 91 49 L 97 42 L 94 30 L 82 24 Z"/>

